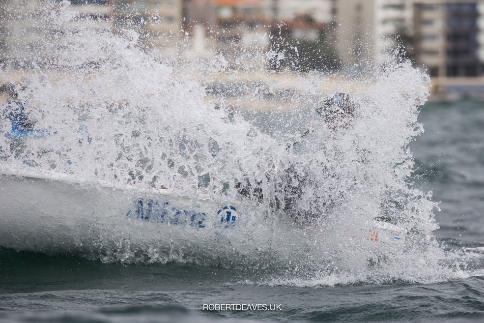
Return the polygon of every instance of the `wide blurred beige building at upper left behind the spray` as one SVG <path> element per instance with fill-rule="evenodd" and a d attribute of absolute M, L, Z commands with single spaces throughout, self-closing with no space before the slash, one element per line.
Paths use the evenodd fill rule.
<path fill-rule="evenodd" d="M 45 5 L 55 1 L 2 0 L 0 2 L 0 60 L 12 67 L 46 59 L 45 37 L 54 35 Z M 67 29 L 134 29 L 140 46 L 158 57 L 180 53 L 182 0 L 71 0 L 73 14 Z M 58 33 L 62 34 L 62 33 Z M 44 50 L 45 52 L 42 52 Z M 30 66 L 31 67 L 31 66 Z"/>

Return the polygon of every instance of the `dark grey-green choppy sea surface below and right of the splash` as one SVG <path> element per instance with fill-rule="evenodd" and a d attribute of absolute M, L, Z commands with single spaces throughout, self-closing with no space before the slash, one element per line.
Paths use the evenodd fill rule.
<path fill-rule="evenodd" d="M 284 281 L 277 269 L 119 264 L 2 248 L 3 322 L 481 322 L 484 319 L 482 102 L 427 103 L 411 144 L 418 185 L 440 201 L 437 241 L 466 268 L 435 282 L 341 277 Z M 398 270 L 398 268 L 396 268 Z M 284 277 L 284 272 L 280 273 Z M 210 303 L 280 311 L 203 311 Z"/>

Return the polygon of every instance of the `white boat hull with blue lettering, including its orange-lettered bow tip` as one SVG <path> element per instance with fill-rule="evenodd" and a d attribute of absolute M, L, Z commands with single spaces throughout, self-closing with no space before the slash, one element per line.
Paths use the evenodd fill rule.
<path fill-rule="evenodd" d="M 129 184 L 86 184 L 68 177 L 1 175 L 0 246 L 81 251 L 101 259 L 110 255 L 107 261 L 136 258 L 136 250 L 142 250 L 150 259 L 166 261 L 197 250 L 208 259 L 229 254 L 234 247 L 256 245 L 262 252 L 277 245 L 271 240 L 288 238 L 287 230 L 281 227 L 275 234 L 275 228 L 255 218 L 256 206 L 182 193 Z M 227 222 L 228 218 L 234 221 Z M 291 227 L 291 231 L 296 228 Z M 351 237 L 401 243 L 404 230 L 375 221 Z M 150 255 L 150 250 L 155 254 Z"/>

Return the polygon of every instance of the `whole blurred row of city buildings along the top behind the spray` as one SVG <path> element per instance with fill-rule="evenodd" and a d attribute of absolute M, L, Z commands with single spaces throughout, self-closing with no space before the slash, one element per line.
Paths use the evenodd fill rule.
<path fill-rule="evenodd" d="M 40 10 L 52 0 L 0 5 L 3 69 L 41 65 Z M 59 1 L 55 1 L 59 2 Z M 67 3 L 67 2 L 66 2 Z M 154 57 L 210 59 L 232 68 L 355 73 L 397 49 L 427 68 L 433 94 L 484 92 L 484 0 L 72 0 L 73 29 L 134 29 Z M 284 53 L 265 61 L 241 52 Z M 255 65 L 262 66 L 255 66 Z M 425 67 L 424 67 L 425 66 Z"/>

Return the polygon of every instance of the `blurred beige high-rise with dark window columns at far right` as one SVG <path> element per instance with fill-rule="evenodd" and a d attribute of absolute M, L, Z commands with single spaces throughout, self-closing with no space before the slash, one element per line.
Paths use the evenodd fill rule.
<path fill-rule="evenodd" d="M 413 28 L 431 76 L 484 74 L 484 1 L 415 1 Z"/>

